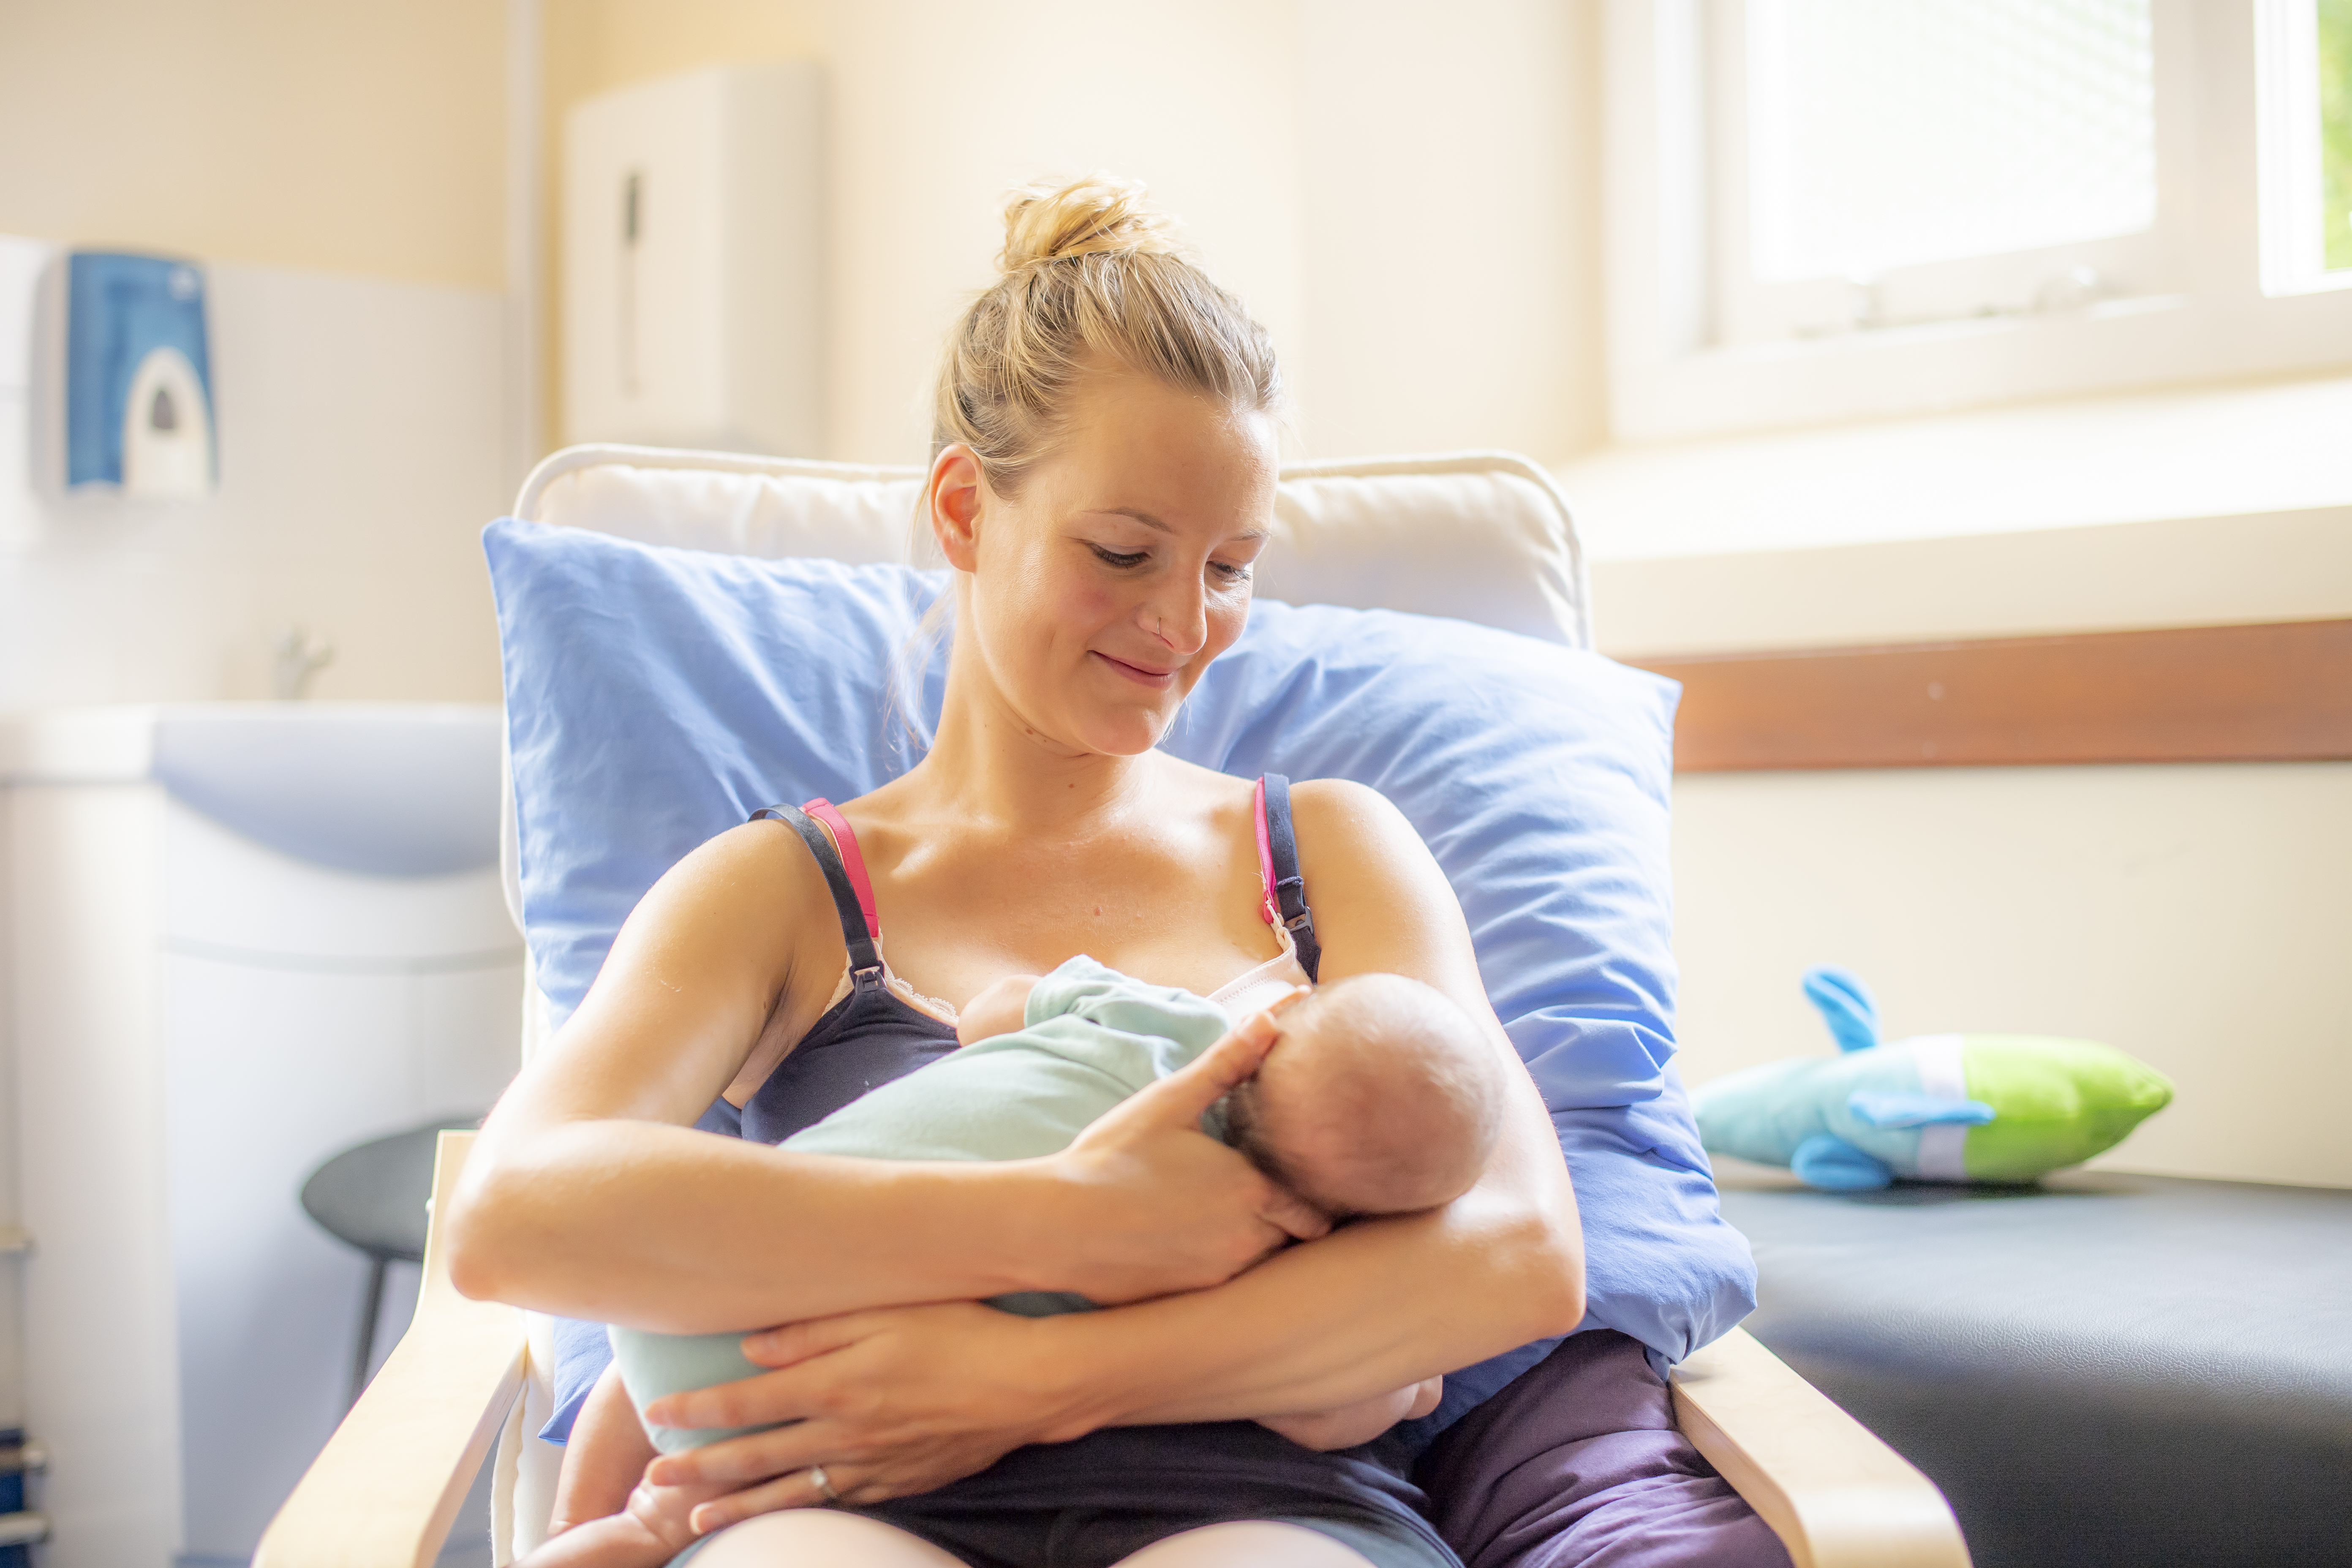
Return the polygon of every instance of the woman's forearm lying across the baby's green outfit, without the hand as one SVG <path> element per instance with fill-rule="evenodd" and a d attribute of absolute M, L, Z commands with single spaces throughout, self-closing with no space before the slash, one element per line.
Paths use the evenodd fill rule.
<path fill-rule="evenodd" d="M 485 1133 L 485 1143 L 492 1135 Z M 487 1157 L 487 1159 L 485 1159 Z M 652 1121 L 477 1150 L 449 1215 L 466 1295 L 661 1333 L 1044 1288 L 1023 1161 L 795 1154 Z"/>

